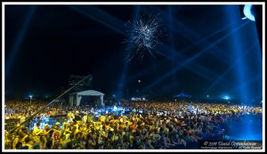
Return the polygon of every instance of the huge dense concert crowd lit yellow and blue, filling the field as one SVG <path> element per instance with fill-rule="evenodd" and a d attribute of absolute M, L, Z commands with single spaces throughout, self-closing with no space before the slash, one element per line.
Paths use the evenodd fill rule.
<path fill-rule="evenodd" d="M 4 118 L 20 123 L 47 102 L 9 101 Z M 124 112 L 99 112 L 90 106 L 70 107 L 55 103 L 42 115 L 66 115 L 53 126 L 36 121 L 34 128 L 18 123 L 5 130 L 6 150 L 154 150 L 198 149 L 201 140 L 224 140 L 228 124 L 249 114 L 262 118 L 263 108 L 225 103 L 128 102 Z M 258 121 L 261 124 L 261 121 Z M 238 124 L 237 124 L 238 125 Z"/>

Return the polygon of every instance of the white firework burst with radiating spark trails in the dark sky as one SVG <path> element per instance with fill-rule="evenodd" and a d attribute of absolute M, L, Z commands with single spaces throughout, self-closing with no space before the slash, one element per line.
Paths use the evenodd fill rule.
<path fill-rule="evenodd" d="M 131 55 L 126 57 L 127 61 L 132 61 L 137 55 L 142 59 L 145 53 L 150 53 L 157 59 L 155 50 L 162 44 L 161 38 L 166 35 L 158 15 L 149 14 L 147 18 L 142 16 L 140 20 L 126 23 L 128 38 L 125 43 L 129 43 L 128 50 L 132 51 Z"/>

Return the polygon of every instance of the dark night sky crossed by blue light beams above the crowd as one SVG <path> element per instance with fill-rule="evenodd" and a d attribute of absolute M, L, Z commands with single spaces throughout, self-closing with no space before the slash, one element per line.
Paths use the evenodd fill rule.
<path fill-rule="evenodd" d="M 136 12 L 159 12 L 166 38 L 157 59 L 145 53 L 127 63 L 125 22 Z M 70 75 L 88 74 L 91 89 L 110 95 L 126 70 L 123 96 L 138 89 L 162 98 L 182 92 L 239 98 L 245 89 L 249 99 L 260 100 L 263 61 L 255 22 L 239 13 L 238 5 L 5 5 L 5 95 L 53 95 L 68 88 Z"/>

